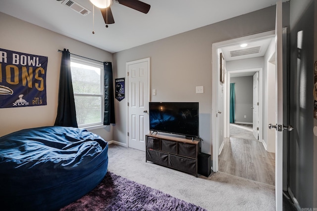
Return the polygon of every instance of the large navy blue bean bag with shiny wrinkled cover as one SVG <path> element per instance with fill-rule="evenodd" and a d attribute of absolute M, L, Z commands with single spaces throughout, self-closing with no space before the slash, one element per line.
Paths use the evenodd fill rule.
<path fill-rule="evenodd" d="M 74 127 L 0 137 L 0 210 L 54 211 L 81 198 L 106 175 L 107 150 L 99 135 Z"/>

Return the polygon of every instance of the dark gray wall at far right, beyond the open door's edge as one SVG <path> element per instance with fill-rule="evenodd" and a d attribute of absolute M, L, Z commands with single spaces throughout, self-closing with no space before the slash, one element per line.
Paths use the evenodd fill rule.
<path fill-rule="evenodd" d="M 317 120 L 314 61 L 317 61 L 317 1 L 291 0 L 289 187 L 301 208 L 317 208 Z M 297 33 L 303 31 L 299 50 Z M 300 53 L 298 53 L 300 51 Z"/>

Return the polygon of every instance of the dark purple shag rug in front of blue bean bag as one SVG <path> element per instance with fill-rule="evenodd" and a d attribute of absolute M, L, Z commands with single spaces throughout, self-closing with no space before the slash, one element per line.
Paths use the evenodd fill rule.
<path fill-rule="evenodd" d="M 103 181 L 60 211 L 206 211 L 159 190 L 107 172 Z"/>

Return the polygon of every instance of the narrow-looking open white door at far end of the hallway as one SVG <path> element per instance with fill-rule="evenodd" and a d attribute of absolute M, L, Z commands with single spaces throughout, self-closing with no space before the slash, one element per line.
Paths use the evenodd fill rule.
<path fill-rule="evenodd" d="M 253 135 L 259 140 L 259 72 L 253 75 Z"/>

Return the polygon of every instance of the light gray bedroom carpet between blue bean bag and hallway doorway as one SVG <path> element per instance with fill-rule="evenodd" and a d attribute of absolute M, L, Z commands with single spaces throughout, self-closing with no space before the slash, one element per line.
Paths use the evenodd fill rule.
<path fill-rule="evenodd" d="M 274 187 L 222 172 L 193 175 L 146 162 L 145 152 L 116 144 L 108 171 L 208 211 L 275 211 Z"/>

